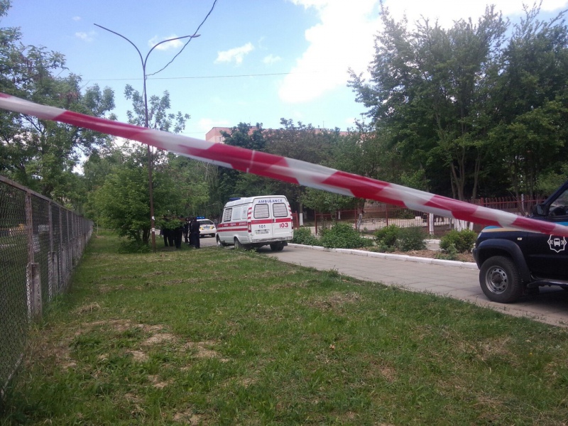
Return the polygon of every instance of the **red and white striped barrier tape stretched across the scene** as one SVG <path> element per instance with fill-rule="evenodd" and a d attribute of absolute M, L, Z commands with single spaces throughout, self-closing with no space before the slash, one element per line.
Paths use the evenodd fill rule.
<path fill-rule="evenodd" d="M 0 108 L 40 119 L 61 121 L 72 126 L 84 127 L 121 138 L 132 139 L 156 148 L 170 151 L 196 160 L 206 161 L 246 173 L 297 183 L 307 187 L 395 204 L 420 212 L 453 217 L 483 225 L 506 226 L 556 236 L 568 236 L 568 226 L 520 217 L 516 214 L 479 207 L 474 204 L 413 190 L 381 180 L 364 178 L 322 165 L 251 151 L 223 143 L 210 143 L 188 136 L 165 131 L 146 129 L 132 124 L 66 111 L 55 107 L 34 104 L 8 94 L 0 93 Z"/>

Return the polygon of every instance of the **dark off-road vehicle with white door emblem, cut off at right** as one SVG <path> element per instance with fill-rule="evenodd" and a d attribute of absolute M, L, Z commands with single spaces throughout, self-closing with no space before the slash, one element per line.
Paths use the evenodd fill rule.
<path fill-rule="evenodd" d="M 568 181 L 535 206 L 533 219 L 568 226 Z M 488 226 L 474 249 L 479 283 L 489 300 L 510 303 L 538 293 L 543 285 L 568 290 L 568 239 L 518 229 Z"/>

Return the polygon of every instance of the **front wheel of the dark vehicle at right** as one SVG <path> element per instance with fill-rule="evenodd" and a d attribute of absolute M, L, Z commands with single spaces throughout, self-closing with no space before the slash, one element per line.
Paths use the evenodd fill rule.
<path fill-rule="evenodd" d="M 523 283 L 518 268 L 505 256 L 493 256 L 481 265 L 479 284 L 492 302 L 515 302 L 523 295 Z"/>

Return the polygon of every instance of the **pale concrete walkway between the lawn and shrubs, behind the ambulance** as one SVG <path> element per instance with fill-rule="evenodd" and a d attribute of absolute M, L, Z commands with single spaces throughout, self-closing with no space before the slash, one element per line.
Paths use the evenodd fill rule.
<path fill-rule="evenodd" d="M 499 312 L 547 324 L 568 326 L 568 292 L 560 288 L 541 288 L 539 295 L 523 297 L 504 305 L 491 302 L 479 286 L 475 263 L 439 261 L 389 253 L 348 249 L 323 249 L 289 244 L 283 251 L 259 249 L 278 260 L 316 268 L 334 270 L 359 280 L 396 285 L 410 291 L 434 293 L 488 307 Z"/>

